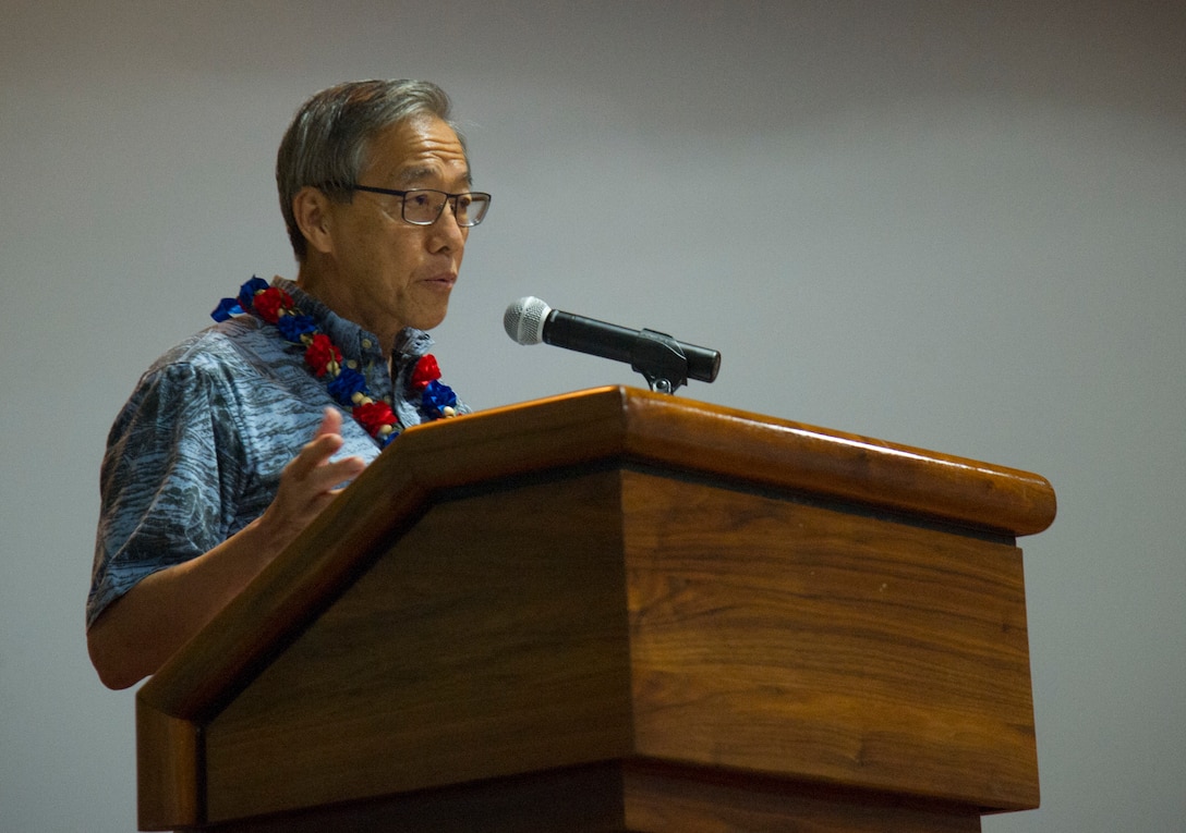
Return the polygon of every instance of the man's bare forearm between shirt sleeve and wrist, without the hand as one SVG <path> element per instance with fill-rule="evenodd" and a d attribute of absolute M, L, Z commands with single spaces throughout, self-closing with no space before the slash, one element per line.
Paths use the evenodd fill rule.
<path fill-rule="evenodd" d="M 100 679 L 127 688 L 155 673 L 280 552 L 256 520 L 192 560 L 144 578 L 100 615 L 87 648 Z"/>

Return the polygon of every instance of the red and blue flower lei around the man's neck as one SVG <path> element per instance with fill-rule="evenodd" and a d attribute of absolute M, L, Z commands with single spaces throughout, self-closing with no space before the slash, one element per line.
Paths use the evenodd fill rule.
<path fill-rule="evenodd" d="M 225 321 L 232 315 L 254 313 L 280 329 L 289 344 L 305 348 L 305 364 L 317 378 L 325 378 L 330 395 L 368 434 L 385 447 L 400 436 L 403 428 L 391 406 L 382 399 L 374 399 L 362 373 L 342 364 L 342 351 L 317 325 L 311 315 L 302 313 L 293 303 L 292 296 L 267 281 L 251 277 L 238 291 L 238 297 L 224 297 L 210 318 Z M 408 386 L 420 392 L 421 409 L 434 419 L 457 416 L 457 395 L 440 382 L 441 371 L 431 353 L 421 355 L 412 371 Z"/>

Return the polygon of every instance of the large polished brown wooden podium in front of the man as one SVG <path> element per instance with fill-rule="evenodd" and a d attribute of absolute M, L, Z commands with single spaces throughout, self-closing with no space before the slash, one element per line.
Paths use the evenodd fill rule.
<path fill-rule="evenodd" d="M 408 431 L 136 698 L 141 829 L 978 831 L 1041 478 L 606 387 Z"/>

